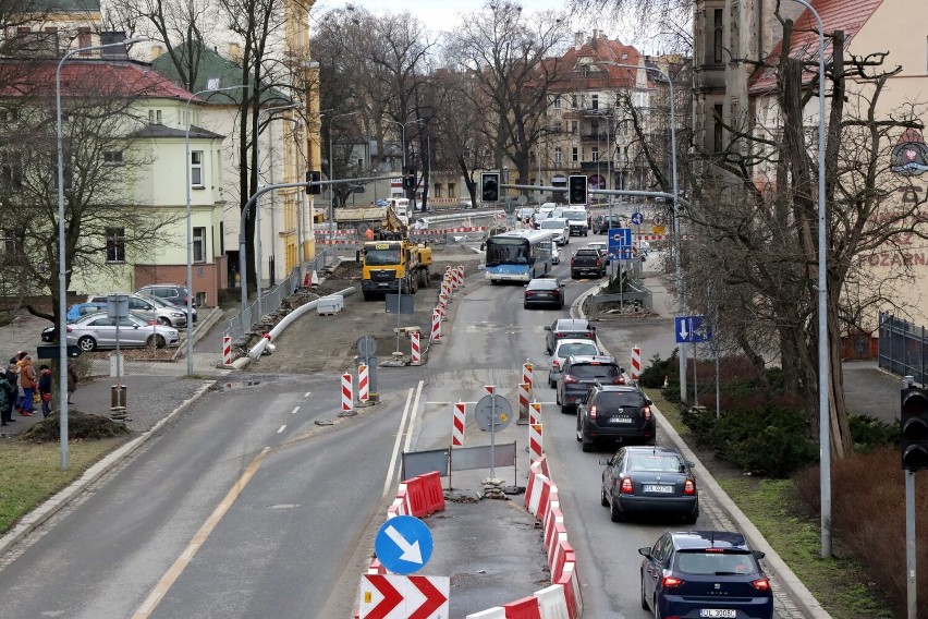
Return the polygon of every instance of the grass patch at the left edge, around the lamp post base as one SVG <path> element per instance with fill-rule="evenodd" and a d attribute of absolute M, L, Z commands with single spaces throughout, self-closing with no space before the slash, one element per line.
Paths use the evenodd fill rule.
<path fill-rule="evenodd" d="M 58 444 L 2 439 L 0 471 L 5 473 L 0 476 L 0 534 L 127 439 L 118 437 L 69 444 L 66 471 L 60 466 Z"/>

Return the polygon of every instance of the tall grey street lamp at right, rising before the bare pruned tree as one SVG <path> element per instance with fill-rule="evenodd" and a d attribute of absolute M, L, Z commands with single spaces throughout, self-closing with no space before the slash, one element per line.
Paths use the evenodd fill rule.
<path fill-rule="evenodd" d="M 830 364 L 825 239 L 825 25 L 821 15 L 806 0 L 795 1 L 805 7 L 818 22 L 818 442 L 821 459 L 821 556 L 827 559 L 831 557 L 831 425 L 828 409 Z"/>

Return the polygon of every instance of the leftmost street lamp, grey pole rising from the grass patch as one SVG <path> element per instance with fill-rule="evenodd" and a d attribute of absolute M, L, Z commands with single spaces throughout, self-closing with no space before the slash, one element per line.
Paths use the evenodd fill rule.
<path fill-rule="evenodd" d="M 106 49 L 108 47 L 126 46 L 133 43 L 142 43 L 148 40 L 146 38 L 131 38 L 119 43 L 108 43 L 105 45 L 91 45 L 80 47 L 66 51 L 61 60 L 58 61 L 58 68 L 54 70 L 54 129 L 58 148 L 58 401 L 61 406 L 59 414 L 59 441 L 60 446 L 60 466 L 62 471 L 68 470 L 68 284 L 65 279 L 68 270 L 64 265 L 64 138 L 61 135 L 61 66 L 64 62 L 83 51 L 91 51 L 94 49 Z"/>

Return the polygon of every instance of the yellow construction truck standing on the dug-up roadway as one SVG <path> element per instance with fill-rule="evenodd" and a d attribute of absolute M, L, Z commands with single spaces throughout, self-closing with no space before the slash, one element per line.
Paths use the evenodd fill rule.
<path fill-rule="evenodd" d="M 428 284 L 431 247 L 410 241 L 408 228 L 392 207 L 381 222 L 379 239 L 365 242 L 359 254 L 365 301 L 388 292 L 415 294 Z"/>

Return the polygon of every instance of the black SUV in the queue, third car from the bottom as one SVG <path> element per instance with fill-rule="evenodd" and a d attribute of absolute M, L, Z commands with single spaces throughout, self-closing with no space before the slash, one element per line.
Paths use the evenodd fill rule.
<path fill-rule="evenodd" d="M 598 440 L 654 445 L 656 432 L 651 401 L 638 387 L 594 385 L 577 406 L 577 440 L 584 451 Z"/>

